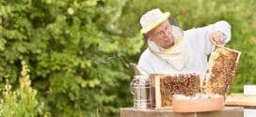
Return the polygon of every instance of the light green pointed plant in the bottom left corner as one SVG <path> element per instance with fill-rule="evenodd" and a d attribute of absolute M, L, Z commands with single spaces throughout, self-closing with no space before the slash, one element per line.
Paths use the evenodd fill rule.
<path fill-rule="evenodd" d="M 37 91 L 30 87 L 29 68 L 23 61 L 23 71 L 21 72 L 20 87 L 15 91 L 10 91 L 11 85 L 5 85 L 3 98 L 0 102 L 1 117 L 35 117 L 49 114 L 44 112 L 43 103 L 36 99 Z"/>

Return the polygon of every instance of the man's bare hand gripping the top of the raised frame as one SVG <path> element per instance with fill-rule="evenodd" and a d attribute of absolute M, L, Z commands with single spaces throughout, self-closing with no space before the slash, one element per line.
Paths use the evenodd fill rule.
<path fill-rule="evenodd" d="M 225 40 L 225 35 L 220 31 L 216 31 L 211 34 L 210 40 L 214 45 L 223 45 Z"/>

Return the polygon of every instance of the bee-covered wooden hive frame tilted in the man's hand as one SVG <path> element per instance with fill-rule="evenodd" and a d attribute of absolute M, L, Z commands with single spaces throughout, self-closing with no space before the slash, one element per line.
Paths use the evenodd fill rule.
<path fill-rule="evenodd" d="M 227 95 L 234 79 L 241 52 L 216 46 L 212 52 L 203 80 L 204 94 Z"/>

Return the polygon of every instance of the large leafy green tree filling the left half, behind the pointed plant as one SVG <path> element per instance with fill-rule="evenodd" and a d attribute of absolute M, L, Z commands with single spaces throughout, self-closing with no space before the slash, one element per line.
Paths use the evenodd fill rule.
<path fill-rule="evenodd" d="M 115 24 L 125 3 L 1 0 L 1 80 L 16 84 L 19 63 L 26 60 L 32 87 L 52 116 L 106 116 L 129 106 L 126 57 L 139 52 L 143 41 L 123 37 Z"/>

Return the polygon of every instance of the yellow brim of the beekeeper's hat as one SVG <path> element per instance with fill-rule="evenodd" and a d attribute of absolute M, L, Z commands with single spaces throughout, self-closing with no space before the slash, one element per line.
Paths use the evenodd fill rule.
<path fill-rule="evenodd" d="M 165 22 L 166 20 L 168 20 L 168 17 L 170 15 L 169 12 L 164 13 L 164 15 L 165 15 L 164 17 L 162 17 L 157 22 L 155 22 L 151 27 L 142 28 L 140 30 L 140 34 L 146 34 L 146 33 L 150 32 L 153 28 L 157 27 L 162 22 Z"/>

